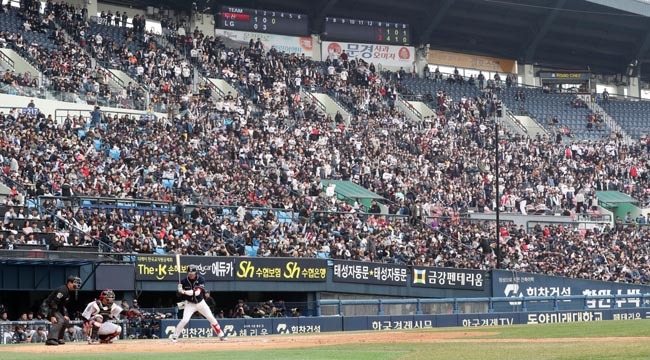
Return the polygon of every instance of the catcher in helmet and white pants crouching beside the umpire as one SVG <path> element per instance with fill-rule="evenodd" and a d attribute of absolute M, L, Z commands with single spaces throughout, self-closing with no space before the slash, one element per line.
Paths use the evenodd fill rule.
<path fill-rule="evenodd" d="M 88 343 L 108 344 L 122 332 L 122 327 L 110 322 L 118 320 L 122 308 L 114 303 L 115 293 L 106 289 L 99 295 L 99 299 L 91 301 L 81 314 L 84 318 L 84 331 L 88 335 Z"/>

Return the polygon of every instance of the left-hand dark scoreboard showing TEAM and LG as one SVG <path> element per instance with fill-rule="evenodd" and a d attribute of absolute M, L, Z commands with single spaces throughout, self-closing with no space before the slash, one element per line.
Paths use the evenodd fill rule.
<path fill-rule="evenodd" d="M 291 36 L 309 35 L 309 19 L 304 14 L 222 6 L 217 18 L 219 29 Z"/>

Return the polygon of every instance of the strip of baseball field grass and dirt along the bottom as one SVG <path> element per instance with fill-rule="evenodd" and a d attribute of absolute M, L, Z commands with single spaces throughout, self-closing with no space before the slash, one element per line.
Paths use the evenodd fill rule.
<path fill-rule="evenodd" d="M 246 344 L 242 343 L 242 348 L 236 351 L 183 353 L 84 354 L 84 346 L 79 346 L 82 350 L 78 354 L 44 354 L 42 351 L 45 349 L 41 344 L 27 345 L 34 348 L 33 352 L 15 353 L 11 352 L 11 347 L 17 345 L 3 345 L 0 346 L 0 360 L 650 359 L 650 320 L 417 330 L 418 333 L 430 333 L 432 338 L 436 332 L 456 331 L 475 336 L 436 343 L 364 343 L 260 351 L 247 350 Z M 367 334 L 369 337 L 373 335 L 372 332 Z M 105 347 L 106 351 L 111 351 L 111 345 Z M 172 350 L 173 348 L 170 348 L 170 351 Z"/>

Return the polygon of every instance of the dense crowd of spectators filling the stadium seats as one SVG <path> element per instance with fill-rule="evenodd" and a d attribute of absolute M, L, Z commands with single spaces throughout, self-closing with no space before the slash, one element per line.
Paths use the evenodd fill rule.
<path fill-rule="evenodd" d="M 134 36 L 141 49 L 125 46 L 114 54 L 166 103 L 167 118 L 98 110 L 58 122 L 15 109 L 0 114 L 3 173 L 22 184 L 6 200 L 4 247 L 33 241 L 14 226 L 20 217 L 12 208 L 25 204 L 21 193 L 97 196 L 162 200 L 177 211 L 39 204 L 51 211 L 43 227 L 57 233 L 51 248 L 101 241 L 116 252 L 216 256 L 249 256 L 247 248 L 253 248 L 256 256 L 472 269 L 495 268 L 501 256 L 508 269 L 650 280 L 643 217 L 589 231 L 548 225 L 526 232 L 504 225 L 496 239 L 494 222 L 465 216 L 497 207 L 521 214 L 594 214 L 597 190 L 621 191 L 647 206 L 650 144 L 604 139 L 557 146 L 554 139 L 522 138 L 503 128 L 495 144 L 489 89 L 477 98 L 440 94 L 436 116 L 414 122 L 393 104 L 406 74 L 384 76 L 373 64 L 343 54 L 316 63 L 254 41 L 226 49 L 192 33 L 191 49 L 203 54 L 196 60 L 201 70 L 229 78 L 243 94 L 212 103 L 206 87 L 190 92 L 184 70 L 176 71 L 185 62 L 176 50 L 163 50 L 144 32 Z M 66 44 L 62 56 L 65 49 L 83 54 Z M 98 45 L 95 39 L 88 46 Z M 85 55 L 79 56 L 70 61 Z M 47 66 L 49 60 L 43 61 Z M 83 86 L 83 73 L 69 76 L 75 78 L 64 77 L 64 86 Z M 355 108 L 353 117 L 321 114 L 301 97 L 301 88 L 312 87 Z M 489 160 L 495 146 L 498 198 Z M 322 188 L 325 179 L 353 181 L 386 200 L 369 207 L 347 203 Z M 297 216 L 287 221 L 281 212 Z"/>

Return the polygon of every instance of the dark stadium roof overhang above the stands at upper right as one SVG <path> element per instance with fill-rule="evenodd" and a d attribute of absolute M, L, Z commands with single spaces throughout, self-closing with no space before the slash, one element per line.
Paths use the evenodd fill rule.
<path fill-rule="evenodd" d="M 189 10 L 192 2 L 109 0 Z M 300 12 L 319 33 L 325 16 L 396 21 L 411 25 L 413 44 L 515 59 L 520 63 L 618 74 L 641 65 L 650 79 L 650 2 L 645 0 L 198 0 L 221 5 Z M 630 69 L 630 64 L 637 66 Z M 645 76 L 644 73 L 648 73 Z"/>

